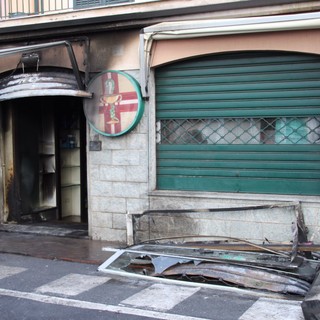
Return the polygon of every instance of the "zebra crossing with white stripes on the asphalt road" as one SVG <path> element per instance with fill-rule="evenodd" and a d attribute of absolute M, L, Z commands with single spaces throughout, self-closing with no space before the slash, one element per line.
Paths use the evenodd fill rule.
<path fill-rule="evenodd" d="M 93 309 L 124 313 L 127 315 L 140 315 L 150 319 L 177 319 L 177 320 L 224 320 L 223 313 L 219 310 L 213 312 L 216 306 L 215 300 L 219 294 L 215 291 L 208 294 L 208 290 L 200 287 L 184 285 L 143 282 L 143 285 L 135 283 L 132 291 L 127 290 L 125 283 L 124 295 L 119 299 L 118 295 L 112 295 L 115 290 L 114 279 L 101 274 L 69 273 L 46 283 L 38 283 L 33 288 L 21 291 L 15 288 L 5 288 L 5 281 L 12 277 L 28 274 L 30 270 L 23 267 L 6 266 L 0 264 L 0 297 L 1 295 L 15 296 L 33 301 L 61 304 L 77 308 Z M 43 281 L 43 280 L 42 280 Z M 41 282 L 41 281 L 40 281 Z M 119 283 L 116 285 L 119 286 Z M 120 284 L 121 285 L 121 284 Z M 99 291 L 100 290 L 100 291 Z M 88 296 L 94 296 L 94 292 L 109 294 L 108 303 L 89 301 Z M 129 292 L 130 291 L 130 292 Z M 126 296 L 126 293 L 129 293 Z M 226 295 L 227 297 L 227 295 Z M 113 300 L 112 300 L 113 299 Z M 232 299 L 232 298 L 231 298 Z M 300 301 L 285 301 L 270 298 L 254 298 L 250 304 L 243 304 L 237 310 L 231 312 L 232 301 L 224 307 L 228 313 L 228 319 L 234 320 L 303 320 Z M 208 310 L 205 313 L 202 306 L 207 303 Z M 193 306 L 193 307 L 191 307 Z M 196 306 L 197 308 L 195 308 Z M 183 310 L 183 314 L 182 313 Z"/>

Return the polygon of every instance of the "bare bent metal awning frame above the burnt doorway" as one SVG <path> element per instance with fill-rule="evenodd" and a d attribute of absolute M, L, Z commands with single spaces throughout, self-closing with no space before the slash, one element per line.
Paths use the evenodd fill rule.
<path fill-rule="evenodd" d="M 73 69 L 73 73 L 75 75 L 78 88 L 81 91 L 85 90 L 84 83 L 81 79 L 78 63 L 72 48 L 72 45 L 69 41 L 56 41 L 56 42 L 49 42 L 49 43 L 42 43 L 42 44 L 35 44 L 35 45 L 29 45 L 29 46 L 22 46 L 22 47 L 14 47 L 14 48 L 8 48 L 8 49 L 1 49 L 0 50 L 0 58 L 9 56 L 11 54 L 17 54 L 17 53 L 31 53 L 35 50 L 44 50 L 52 47 L 58 47 L 58 46 L 65 46 L 67 48 L 67 52 L 70 58 L 71 66 Z"/>

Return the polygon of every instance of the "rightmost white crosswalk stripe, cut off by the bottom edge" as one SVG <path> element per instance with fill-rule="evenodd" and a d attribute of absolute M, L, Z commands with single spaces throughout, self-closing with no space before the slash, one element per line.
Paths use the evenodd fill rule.
<path fill-rule="evenodd" d="M 299 301 L 260 298 L 239 320 L 304 320 Z"/>

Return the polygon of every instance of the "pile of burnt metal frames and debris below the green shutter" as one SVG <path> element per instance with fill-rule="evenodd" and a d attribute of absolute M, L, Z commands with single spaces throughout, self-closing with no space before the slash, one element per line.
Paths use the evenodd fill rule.
<path fill-rule="evenodd" d="M 149 239 L 117 250 L 99 270 L 303 299 L 319 271 L 320 246 L 308 241 L 300 205 L 291 206 L 296 220 L 292 222 L 289 243 L 257 244 L 232 237 L 176 235 Z"/>

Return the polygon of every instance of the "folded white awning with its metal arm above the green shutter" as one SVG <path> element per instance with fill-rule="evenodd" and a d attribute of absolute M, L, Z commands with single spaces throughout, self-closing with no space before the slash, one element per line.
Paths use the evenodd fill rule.
<path fill-rule="evenodd" d="M 154 41 L 191 39 L 245 33 L 279 32 L 320 28 L 320 12 L 267 17 L 163 22 L 140 33 L 140 84 L 148 97 L 150 58 Z"/>

